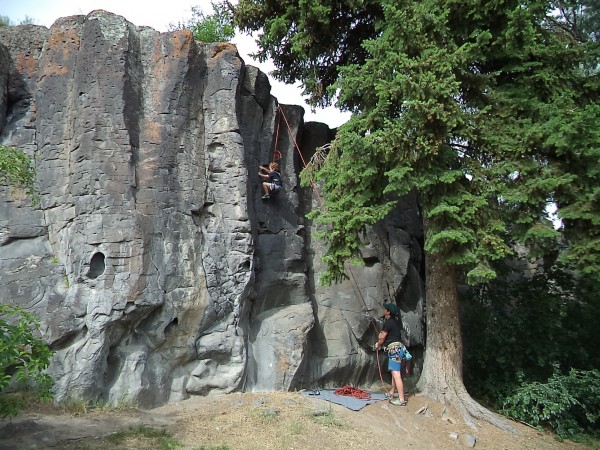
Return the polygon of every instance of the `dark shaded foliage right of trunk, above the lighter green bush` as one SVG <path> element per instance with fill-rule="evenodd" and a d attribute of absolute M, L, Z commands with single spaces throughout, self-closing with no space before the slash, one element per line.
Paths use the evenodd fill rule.
<path fill-rule="evenodd" d="M 502 276 L 462 298 L 464 380 L 473 395 L 501 407 L 521 383 L 543 382 L 558 366 L 600 367 L 598 283 L 554 267 Z"/>

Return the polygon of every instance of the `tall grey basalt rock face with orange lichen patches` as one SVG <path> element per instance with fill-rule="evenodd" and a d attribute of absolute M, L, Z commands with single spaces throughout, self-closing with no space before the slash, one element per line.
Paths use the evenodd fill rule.
<path fill-rule="evenodd" d="M 41 318 L 59 401 L 369 383 L 386 301 L 422 345 L 414 199 L 366 233 L 350 280 L 319 284 L 298 173 L 333 132 L 303 114 L 188 32 L 104 11 L 0 28 L 0 142 L 35 159 L 40 194 L 0 187 L 0 301 Z"/>

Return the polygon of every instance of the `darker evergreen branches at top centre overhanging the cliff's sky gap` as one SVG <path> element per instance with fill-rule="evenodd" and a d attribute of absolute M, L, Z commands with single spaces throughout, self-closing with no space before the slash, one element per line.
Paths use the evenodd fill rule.
<path fill-rule="evenodd" d="M 259 32 L 259 60 L 270 58 L 285 83 L 300 81 L 315 106 L 334 101 L 339 68 L 365 60 L 361 44 L 380 15 L 379 2 L 368 0 L 240 0 L 234 13 L 241 31 Z"/>

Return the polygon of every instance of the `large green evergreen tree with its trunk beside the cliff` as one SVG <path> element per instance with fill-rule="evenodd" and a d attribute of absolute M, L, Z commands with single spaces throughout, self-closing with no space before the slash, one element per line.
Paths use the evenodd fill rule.
<path fill-rule="evenodd" d="M 589 3 L 589 2 L 588 2 Z M 591 2 L 594 3 L 594 2 Z M 557 7 L 559 6 L 559 7 Z M 467 423 L 501 420 L 462 380 L 456 286 L 495 276 L 516 241 L 600 276 L 598 47 L 578 2 L 241 0 L 276 75 L 352 111 L 319 176 L 325 281 L 359 233 L 418 191 L 426 229 L 427 346 L 418 387 Z M 547 208 L 557 207 L 555 229 Z"/>

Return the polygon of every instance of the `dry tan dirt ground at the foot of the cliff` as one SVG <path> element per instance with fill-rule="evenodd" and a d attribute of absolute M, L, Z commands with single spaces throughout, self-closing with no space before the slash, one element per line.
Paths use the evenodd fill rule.
<path fill-rule="evenodd" d="M 381 401 L 352 411 L 318 396 L 278 392 L 192 397 L 152 410 L 27 411 L 0 423 L 0 449 L 159 448 L 135 439 L 111 446 L 107 440 L 140 425 L 166 429 L 190 450 L 460 449 L 469 447 L 468 435 L 481 450 L 588 448 L 519 423 L 513 424 L 517 434 L 487 423 L 472 430 L 456 412 L 425 397 L 409 396 L 406 407 Z"/>

